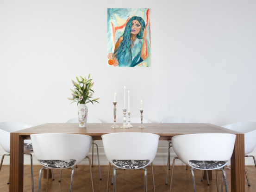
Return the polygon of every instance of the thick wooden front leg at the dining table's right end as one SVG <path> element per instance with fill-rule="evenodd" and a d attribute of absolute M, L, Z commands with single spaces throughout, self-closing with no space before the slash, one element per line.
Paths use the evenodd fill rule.
<path fill-rule="evenodd" d="M 231 157 L 231 192 L 245 192 L 244 134 L 236 134 L 236 136 Z"/>

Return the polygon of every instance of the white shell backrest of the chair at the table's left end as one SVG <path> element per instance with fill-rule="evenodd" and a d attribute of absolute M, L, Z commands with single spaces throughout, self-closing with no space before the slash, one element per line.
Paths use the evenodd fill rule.
<path fill-rule="evenodd" d="M 30 124 L 23 124 L 18 122 L 1 122 L 0 123 L 0 145 L 7 152 L 10 153 L 11 144 L 11 132 L 18 130 L 24 130 L 33 127 Z M 24 147 L 24 153 L 29 153 L 30 151 Z"/>

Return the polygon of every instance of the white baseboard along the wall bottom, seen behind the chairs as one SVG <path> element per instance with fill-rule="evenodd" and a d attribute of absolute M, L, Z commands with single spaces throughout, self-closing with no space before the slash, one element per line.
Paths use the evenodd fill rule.
<path fill-rule="evenodd" d="M 6 151 L 4 151 L 0 146 L 0 158 L 2 158 L 2 155 L 4 154 L 6 154 Z M 256 156 L 256 149 L 250 155 Z M 40 165 L 34 153 L 32 153 L 32 156 L 33 156 L 33 165 Z M 92 160 L 92 150 L 89 152 L 88 156 Z M 103 146 L 99 146 L 99 156 L 100 156 L 100 165 L 108 165 L 109 161 L 106 159 Z M 171 164 L 172 164 L 173 158 L 176 157 L 177 155 L 174 153 L 173 150 L 171 150 L 170 156 L 171 156 Z M 153 161 L 154 165 L 167 165 L 167 157 L 168 157 L 168 146 L 159 146 L 157 149 L 156 158 Z M 10 156 L 5 156 L 3 165 L 10 165 Z M 29 155 L 24 155 L 24 165 L 30 165 Z M 87 159 L 85 159 L 79 165 L 89 165 L 89 162 Z M 97 156 L 96 147 L 94 147 L 94 165 L 98 165 L 98 156 Z M 176 160 L 175 165 L 185 165 L 185 164 L 182 163 L 180 160 Z M 245 165 L 254 165 L 253 158 L 246 157 Z"/>

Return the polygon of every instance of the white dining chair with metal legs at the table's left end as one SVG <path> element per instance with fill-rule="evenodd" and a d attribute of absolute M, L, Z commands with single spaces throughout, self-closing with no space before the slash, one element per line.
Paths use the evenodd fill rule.
<path fill-rule="evenodd" d="M 6 155 L 10 156 L 11 132 L 27 129 L 30 127 L 33 127 L 33 125 L 23 124 L 23 123 L 18 123 L 18 122 L 1 122 L 0 123 L 0 145 L 7 152 L 7 154 L 4 154 L 2 156 L 0 170 L 1 170 L 1 167 L 2 167 L 2 164 L 4 161 L 4 157 Z M 33 157 L 31 155 L 31 152 L 33 152 L 33 149 L 31 146 L 31 140 L 24 140 L 24 155 L 30 155 L 31 183 L 32 183 L 32 192 L 34 192 Z M 9 177 L 7 184 L 9 184 L 9 182 L 10 182 L 10 177 Z"/>

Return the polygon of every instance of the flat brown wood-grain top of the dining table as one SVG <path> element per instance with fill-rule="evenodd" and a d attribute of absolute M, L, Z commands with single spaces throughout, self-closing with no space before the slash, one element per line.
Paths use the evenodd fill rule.
<path fill-rule="evenodd" d="M 122 126 L 122 124 L 118 124 Z M 15 133 L 28 139 L 35 133 L 72 133 L 93 136 L 93 139 L 100 140 L 101 136 L 108 133 L 138 132 L 154 133 L 160 136 L 160 140 L 169 140 L 172 136 L 197 133 L 231 133 L 239 134 L 236 131 L 228 130 L 213 124 L 144 124 L 145 128 L 138 128 L 140 124 L 132 124 L 130 129 L 111 128 L 112 124 L 87 124 L 86 128 L 79 128 L 78 124 L 48 123 L 37 125 Z"/>

